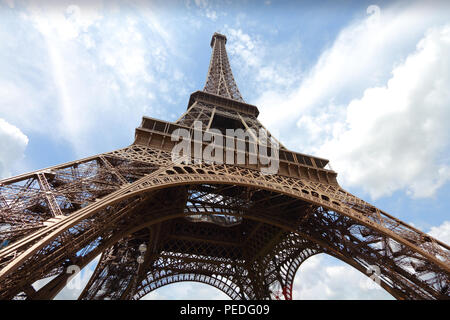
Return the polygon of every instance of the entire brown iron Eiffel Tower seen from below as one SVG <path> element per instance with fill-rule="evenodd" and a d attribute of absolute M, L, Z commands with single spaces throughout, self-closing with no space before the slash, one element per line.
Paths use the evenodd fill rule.
<path fill-rule="evenodd" d="M 53 299 L 99 255 L 79 299 L 140 299 L 181 281 L 232 299 L 292 299 L 296 271 L 318 253 L 397 299 L 449 298 L 449 246 L 345 191 L 328 160 L 271 136 L 238 90 L 226 41 L 213 35 L 206 85 L 177 121 L 144 116 L 126 148 L 0 181 L 1 299 Z M 241 163 L 174 161 L 176 129 L 263 130 L 279 145 L 278 171 L 252 163 L 245 139 L 244 152 L 219 150 Z"/>

